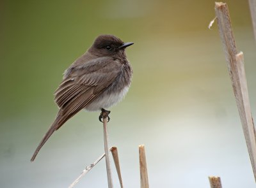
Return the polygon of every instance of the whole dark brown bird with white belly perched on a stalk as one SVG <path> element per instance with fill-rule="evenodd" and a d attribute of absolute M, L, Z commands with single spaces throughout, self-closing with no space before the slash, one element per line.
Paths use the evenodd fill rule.
<path fill-rule="evenodd" d="M 92 47 L 65 71 L 63 81 L 54 93 L 60 110 L 33 154 L 35 160 L 40 148 L 52 133 L 83 108 L 101 110 L 109 114 L 109 108 L 121 101 L 131 84 L 132 68 L 125 48 L 133 43 L 124 43 L 113 35 L 98 36 Z M 109 118 L 109 117 L 108 117 Z"/>

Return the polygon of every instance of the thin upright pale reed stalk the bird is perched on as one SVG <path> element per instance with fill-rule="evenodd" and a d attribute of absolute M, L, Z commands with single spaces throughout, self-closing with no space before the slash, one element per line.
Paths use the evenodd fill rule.
<path fill-rule="evenodd" d="M 109 161 L 109 150 L 108 150 L 108 118 L 103 119 L 103 133 L 104 133 L 104 150 L 106 159 L 106 170 L 108 177 L 108 188 L 113 188 L 113 180 L 111 175 L 110 161 Z"/>

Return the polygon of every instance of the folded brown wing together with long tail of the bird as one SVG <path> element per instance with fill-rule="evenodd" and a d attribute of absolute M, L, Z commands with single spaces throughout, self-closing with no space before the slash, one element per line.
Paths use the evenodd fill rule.
<path fill-rule="evenodd" d="M 54 93 L 60 110 L 33 154 L 35 160 L 40 148 L 52 133 L 58 130 L 68 119 L 96 99 L 122 73 L 122 64 L 109 57 L 100 57 L 93 61 L 74 62 L 65 71 L 63 81 Z"/>

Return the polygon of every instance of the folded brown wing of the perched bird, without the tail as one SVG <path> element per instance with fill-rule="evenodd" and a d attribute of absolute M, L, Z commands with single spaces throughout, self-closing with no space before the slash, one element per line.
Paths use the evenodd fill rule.
<path fill-rule="evenodd" d="M 97 65 L 98 62 L 95 62 Z M 59 129 L 70 117 L 83 109 L 91 101 L 96 99 L 122 71 L 122 64 L 116 61 L 102 62 L 104 66 L 93 70 L 90 64 L 90 72 L 84 66 L 72 68 L 66 72 L 65 79 L 55 92 L 55 101 L 60 106 Z"/>

